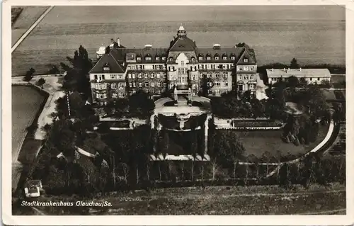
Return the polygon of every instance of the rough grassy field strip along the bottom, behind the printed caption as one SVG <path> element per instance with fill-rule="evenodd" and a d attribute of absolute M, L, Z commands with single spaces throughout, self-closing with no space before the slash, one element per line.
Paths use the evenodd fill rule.
<path fill-rule="evenodd" d="M 290 191 L 278 186 L 164 188 L 90 198 L 109 201 L 112 207 L 37 208 L 47 215 L 284 215 L 322 212 L 328 215 L 333 210 L 341 210 L 335 214 L 345 214 L 345 189 L 345 186 L 337 184 L 329 188 L 311 186 L 308 190 L 295 186 Z M 81 199 L 60 196 L 42 197 L 40 200 L 76 202 Z M 23 212 L 18 214 L 25 214 Z"/>

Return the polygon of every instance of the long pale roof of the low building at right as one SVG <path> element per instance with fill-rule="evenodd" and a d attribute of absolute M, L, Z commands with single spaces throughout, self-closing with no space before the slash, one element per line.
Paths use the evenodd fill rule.
<path fill-rule="evenodd" d="M 268 78 L 288 78 L 288 77 L 305 77 L 305 78 L 331 78 L 329 69 L 266 69 Z"/>

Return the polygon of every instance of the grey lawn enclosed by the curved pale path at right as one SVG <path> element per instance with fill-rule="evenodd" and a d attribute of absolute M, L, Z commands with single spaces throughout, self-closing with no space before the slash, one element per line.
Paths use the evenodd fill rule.
<path fill-rule="evenodd" d="M 316 142 L 299 146 L 283 142 L 280 138 L 282 136 L 282 130 L 234 131 L 234 134 L 235 137 L 239 137 L 239 140 L 244 144 L 246 149 L 245 156 L 254 154 L 256 157 L 261 157 L 265 152 L 270 152 L 273 156 L 277 156 L 278 150 L 284 155 L 287 153 L 293 155 L 305 154 L 324 140 L 328 130 L 329 125 L 321 125 Z M 218 130 L 218 132 L 220 131 L 222 130 Z"/>

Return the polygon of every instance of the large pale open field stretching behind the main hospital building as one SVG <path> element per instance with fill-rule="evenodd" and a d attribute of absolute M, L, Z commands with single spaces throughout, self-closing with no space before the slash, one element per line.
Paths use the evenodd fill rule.
<path fill-rule="evenodd" d="M 55 6 L 13 52 L 12 75 L 23 75 L 30 67 L 45 74 L 48 64 L 67 62 L 79 45 L 94 59 L 110 38 L 120 37 L 127 47 L 167 47 L 181 24 L 198 47 L 246 42 L 255 49 L 258 65 L 288 63 L 292 57 L 299 64 L 345 64 L 344 9 L 323 8 Z"/>

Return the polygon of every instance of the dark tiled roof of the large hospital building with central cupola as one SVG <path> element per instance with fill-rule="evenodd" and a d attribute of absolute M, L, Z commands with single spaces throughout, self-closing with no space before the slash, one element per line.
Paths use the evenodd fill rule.
<path fill-rule="evenodd" d="M 239 65 L 256 64 L 256 55 L 249 45 L 239 43 L 234 47 L 222 47 L 217 44 L 208 48 L 198 48 L 195 41 L 187 37 L 183 26 L 179 28 L 177 36 L 171 41 L 169 48 L 152 47 L 151 45 L 146 45 L 144 48 L 126 48 L 122 45 L 118 47 L 118 43 L 115 42 L 111 45 L 113 49 L 110 49 L 108 46 L 105 55 L 98 60 L 89 73 L 103 73 L 103 66 L 105 64 L 109 65 L 110 73 L 123 73 L 125 72 L 124 62 L 142 64 L 175 63 L 176 58 L 181 52 L 188 57 L 188 60 L 195 57 L 195 63 L 236 62 Z M 202 56 L 202 60 L 199 60 L 200 56 Z M 207 56 L 210 56 L 211 59 L 207 60 Z M 224 60 L 225 56 L 227 59 Z M 141 57 L 141 60 L 136 61 L 137 57 Z M 151 57 L 151 60 L 146 60 L 146 57 Z M 159 59 L 156 60 L 156 57 L 159 57 Z M 166 59 L 162 60 L 162 57 L 166 57 Z M 172 61 L 169 60 L 170 57 L 173 58 Z M 235 57 L 235 60 L 231 60 L 231 57 Z M 248 59 L 246 62 L 244 61 L 245 58 Z"/>

